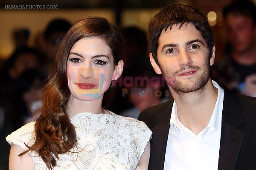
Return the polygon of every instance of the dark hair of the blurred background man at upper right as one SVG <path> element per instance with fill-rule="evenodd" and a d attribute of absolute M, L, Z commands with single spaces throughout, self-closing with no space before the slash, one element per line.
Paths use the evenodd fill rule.
<path fill-rule="evenodd" d="M 226 6 L 222 11 L 224 19 L 228 14 L 243 15 L 250 17 L 253 24 L 256 23 L 256 6 L 250 0 L 237 0 L 230 5 Z"/>

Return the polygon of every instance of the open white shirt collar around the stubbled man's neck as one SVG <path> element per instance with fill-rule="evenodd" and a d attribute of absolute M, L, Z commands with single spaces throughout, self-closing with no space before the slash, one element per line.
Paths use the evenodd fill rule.
<path fill-rule="evenodd" d="M 215 88 L 218 88 L 218 97 L 215 103 L 215 107 L 212 112 L 211 119 L 209 120 L 208 127 L 214 127 L 216 129 L 221 129 L 221 117 L 222 117 L 222 108 L 223 108 L 223 100 L 224 100 L 224 90 L 221 88 L 217 82 L 212 80 L 212 84 Z M 181 128 L 186 131 L 186 127 L 180 122 L 177 114 L 177 105 L 176 102 L 173 102 L 172 105 L 172 114 L 170 119 L 170 125 L 175 125 L 177 128 Z"/>

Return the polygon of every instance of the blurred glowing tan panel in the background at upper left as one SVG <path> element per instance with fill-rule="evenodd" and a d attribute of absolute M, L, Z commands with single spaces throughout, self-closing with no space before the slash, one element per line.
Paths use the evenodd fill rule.
<path fill-rule="evenodd" d="M 84 16 L 100 16 L 111 23 L 115 21 L 112 9 L 58 9 L 58 10 L 4 10 L 0 9 L 0 60 L 7 59 L 15 50 L 12 30 L 15 28 L 29 28 L 31 34 L 29 45 L 34 45 L 37 33 L 44 31 L 47 23 L 54 18 L 65 18 L 71 23 L 81 20 Z"/>

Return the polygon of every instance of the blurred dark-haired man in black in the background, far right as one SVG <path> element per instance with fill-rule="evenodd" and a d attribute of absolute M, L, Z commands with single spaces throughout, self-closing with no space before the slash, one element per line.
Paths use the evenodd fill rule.
<path fill-rule="evenodd" d="M 223 17 L 227 56 L 215 64 L 213 77 L 232 91 L 256 96 L 256 84 L 248 88 L 256 80 L 256 6 L 249 0 L 235 1 L 224 8 Z"/>

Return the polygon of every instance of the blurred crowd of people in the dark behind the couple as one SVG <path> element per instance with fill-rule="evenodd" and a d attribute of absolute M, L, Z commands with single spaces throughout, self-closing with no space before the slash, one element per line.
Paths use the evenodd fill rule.
<path fill-rule="evenodd" d="M 231 91 L 256 97 L 256 6 L 250 1 L 237 1 L 225 7 L 222 14 L 229 41 L 225 54 L 212 67 L 212 78 Z M 28 46 L 28 29 L 13 32 L 15 51 L 0 69 L 0 170 L 8 166 L 9 144 L 5 137 L 36 119 L 43 86 L 54 73 L 52 63 L 70 27 L 64 19 L 50 21 L 44 33 L 36 37 L 34 47 Z M 137 118 L 143 109 L 172 96 L 161 75 L 151 67 L 145 31 L 137 27 L 121 30 L 125 40 L 124 71 L 104 96 L 103 104 L 114 113 Z"/>

